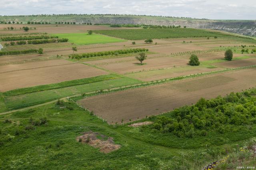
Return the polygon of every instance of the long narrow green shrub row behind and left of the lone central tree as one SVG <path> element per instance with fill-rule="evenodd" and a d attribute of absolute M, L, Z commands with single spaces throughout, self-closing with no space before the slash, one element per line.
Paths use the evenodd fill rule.
<path fill-rule="evenodd" d="M 73 55 L 69 55 L 69 58 L 82 59 L 82 58 L 100 57 L 100 56 L 108 56 L 108 55 L 139 53 L 144 51 L 148 51 L 148 49 L 137 48 L 137 49 L 116 50 L 116 51 L 105 51 L 105 52 L 98 52 L 98 53 L 73 54 Z"/>

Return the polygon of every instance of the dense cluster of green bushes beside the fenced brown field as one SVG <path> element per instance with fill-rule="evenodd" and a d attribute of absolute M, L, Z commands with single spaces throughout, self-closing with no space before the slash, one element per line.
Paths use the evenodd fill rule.
<path fill-rule="evenodd" d="M 201 98 L 193 106 L 184 106 L 164 116 L 154 116 L 152 129 L 178 137 L 207 135 L 208 131 L 226 133 L 239 126 L 256 123 L 256 89 L 231 93 L 212 100 Z"/>

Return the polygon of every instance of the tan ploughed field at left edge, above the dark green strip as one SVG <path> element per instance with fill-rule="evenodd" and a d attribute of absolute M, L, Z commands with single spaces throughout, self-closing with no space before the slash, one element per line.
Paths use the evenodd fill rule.
<path fill-rule="evenodd" d="M 38 67 L 41 65 L 40 63 L 41 62 L 38 63 Z M 22 64 L 17 66 L 22 66 Z M 22 66 L 22 68 L 24 67 Z M 16 88 L 25 88 L 94 77 L 103 74 L 108 74 L 108 72 L 80 63 L 0 73 L 0 92 L 13 90 Z"/>

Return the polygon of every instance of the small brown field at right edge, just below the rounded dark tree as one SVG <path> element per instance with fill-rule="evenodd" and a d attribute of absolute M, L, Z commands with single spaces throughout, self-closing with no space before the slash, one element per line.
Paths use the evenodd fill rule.
<path fill-rule="evenodd" d="M 237 68 L 237 67 L 244 67 L 244 66 L 252 66 L 252 65 L 256 65 L 256 58 L 236 60 L 236 61 L 227 61 L 227 62 L 223 62 L 223 63 L 216 63 L 214 65 L 216 65 L 218 67 L 225 67 L 225 68 Z"/>

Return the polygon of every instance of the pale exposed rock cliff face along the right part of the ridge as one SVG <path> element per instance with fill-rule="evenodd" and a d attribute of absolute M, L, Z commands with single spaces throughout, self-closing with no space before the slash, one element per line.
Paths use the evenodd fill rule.
<path fill-rule="evenodd" d="M 134 18 L 134 17 L 100 17 L 92 20 L 92 23 L 111 24 L 146 24 L 146 25 L 181 25 L 190 28 L 216 29 L 238 33 L 248 36 L 256 36 L 256 21 L 215 21 L 215 20 L 170 20 L 169 18 Z"/>

